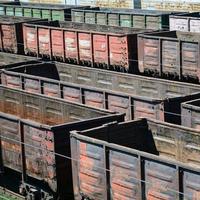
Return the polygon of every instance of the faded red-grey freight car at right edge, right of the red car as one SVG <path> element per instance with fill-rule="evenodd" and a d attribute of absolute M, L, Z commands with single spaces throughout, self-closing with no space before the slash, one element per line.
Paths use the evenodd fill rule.
<path fill-rule="evenodd" d="M 199 82 L 199 33 L 170 31 L 138 35 L 141 73 Z"/>

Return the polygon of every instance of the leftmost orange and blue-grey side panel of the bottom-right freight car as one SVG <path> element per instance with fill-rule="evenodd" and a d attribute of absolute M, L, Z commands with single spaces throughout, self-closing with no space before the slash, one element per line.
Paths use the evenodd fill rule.
<path fill-rule="evenodd" d="M 79 190 L 90 199 L 105 199 L 104 149 L 102 146 L 79 141 Z"/>

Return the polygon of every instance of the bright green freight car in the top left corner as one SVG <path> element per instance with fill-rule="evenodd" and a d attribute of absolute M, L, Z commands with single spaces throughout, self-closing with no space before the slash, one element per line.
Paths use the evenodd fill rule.
<path fill-rule="evenodd" d="M 68 21 L 71 20 L 72 8 L 90 9 L 90 6 L 25 3 L 19 1 L 1 4 L 0 2 L 0 15 Z"/>

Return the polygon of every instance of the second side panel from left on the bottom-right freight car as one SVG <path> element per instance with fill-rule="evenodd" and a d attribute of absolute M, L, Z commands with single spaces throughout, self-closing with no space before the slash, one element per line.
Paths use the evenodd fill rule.
<path fill-rule="evenodd" d="M 111 199 L 140 199 L 140 160 L 120 151 L 109 151 Z"/>

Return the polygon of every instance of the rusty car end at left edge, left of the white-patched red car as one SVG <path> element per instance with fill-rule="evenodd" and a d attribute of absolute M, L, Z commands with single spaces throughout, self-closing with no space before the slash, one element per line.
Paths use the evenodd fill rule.
<path fill-rule="evenodd" d="M 30 21 L 39 21 L 39 19 L 0 16 L 0 51 L 23 54 L 22 24 Z"/>

